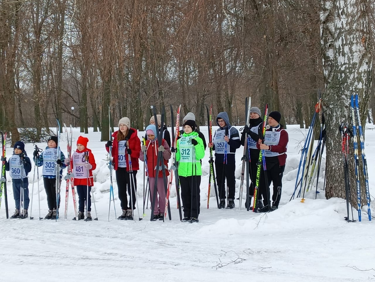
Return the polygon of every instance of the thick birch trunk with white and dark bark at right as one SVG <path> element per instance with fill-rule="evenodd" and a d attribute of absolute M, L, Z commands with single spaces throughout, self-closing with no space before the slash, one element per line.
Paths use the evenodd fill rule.
<path fill-rule="evenodd" d="M 343 121 L 351 124 L 350 96 L 358 94 L 359 100 L 365 101 L 360 104 L 361 112 L 368 108 L 372 46 L 367 5 L 366 0 L 321 1 L 321 44 L 326 84 L 323 110 L 327 129 L 327 199 L 345 198 L 339 125 Z M 350 148 L 351 204 L 356 206 L 353 143 Z M 362 195 L 365 195 L 363 187 Z"/>

